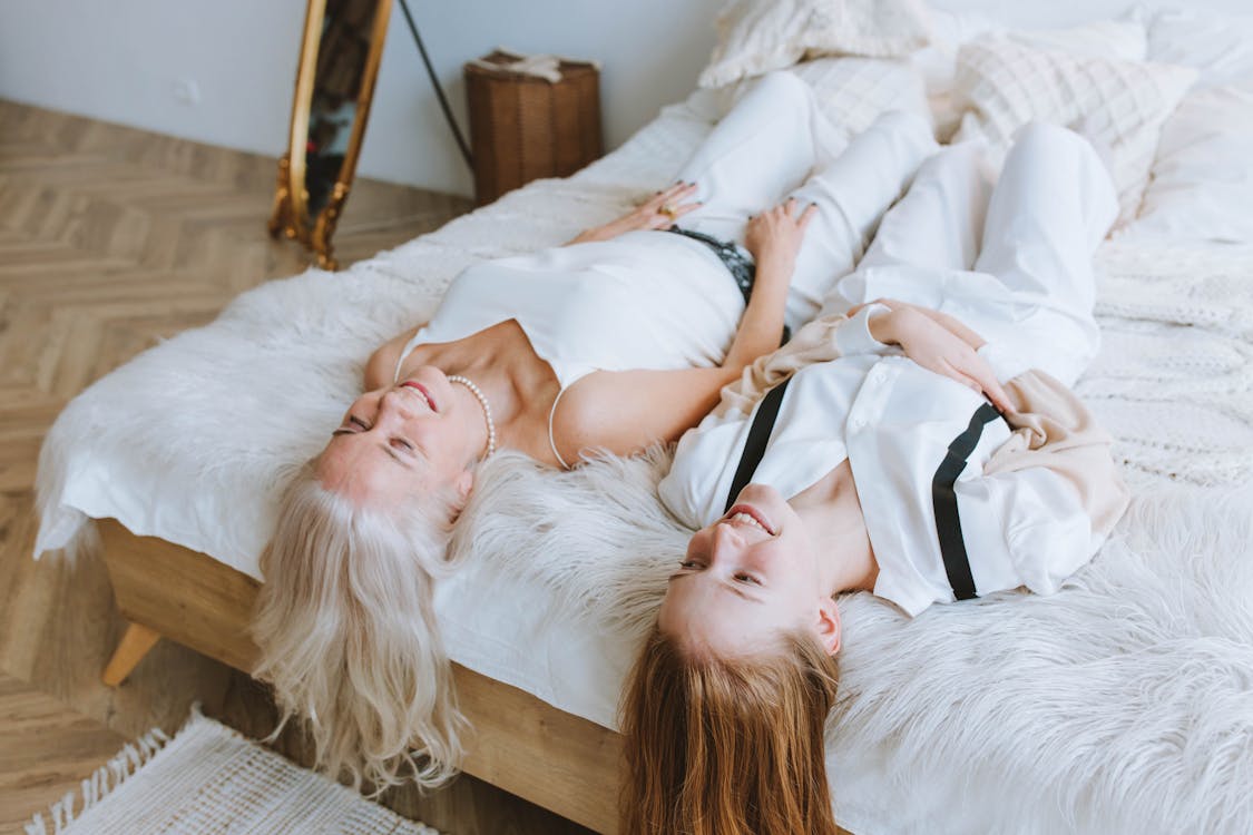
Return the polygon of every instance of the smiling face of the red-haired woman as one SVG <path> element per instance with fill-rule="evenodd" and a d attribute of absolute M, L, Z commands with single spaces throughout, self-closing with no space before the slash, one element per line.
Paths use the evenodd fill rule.
<path fill-rule="evenodd" d="M 781 635 L 813 631 L 840 648 L 840 613 L 823 588 L 817 548 L 773 487 L 749 484 L 730 511 L 688 543 L 658 615 L 690 650 L 734 657 L 769 651 Z"/>

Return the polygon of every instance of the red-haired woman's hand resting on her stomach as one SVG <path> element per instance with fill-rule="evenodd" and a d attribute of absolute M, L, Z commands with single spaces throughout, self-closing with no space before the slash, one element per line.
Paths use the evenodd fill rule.
<path fill-rule="evenodd" d="M 880 302 L 888 305 L 890 313 L 871 322 L 876 339 L 901 346 L 905 356 L 917 364 L 975 389 L 1001 412 L 1015 411 L 992 367 L 976 353 L 977 346 L 984 344 L 979 334 L 936 310 L 888 299 Z M 848 314 L 862 307 L 852 308 Z"/>

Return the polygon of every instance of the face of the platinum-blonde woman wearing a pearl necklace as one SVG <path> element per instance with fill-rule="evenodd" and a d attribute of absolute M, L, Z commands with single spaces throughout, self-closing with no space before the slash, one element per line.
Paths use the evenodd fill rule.
<path fill-rule="evenodd" d="M 474 483 L 472 447 L 476 441 L 481 447 L 472 428 L 481 426 L 482 413 L 470 413 L 444 372 L 424 366 L 348 407 L 318 457 L 317 477 L 358 507 L 386 506 L 441 487 L 464 498 Z"/>

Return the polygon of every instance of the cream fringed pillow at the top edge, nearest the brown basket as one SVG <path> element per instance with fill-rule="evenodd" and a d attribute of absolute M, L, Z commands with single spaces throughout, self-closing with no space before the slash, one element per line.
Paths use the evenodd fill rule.
<path fill-rule="evenodd" d="M 921 0 L 730 0 L 698 84 L 722 86 L 823 55 L 896 58 L 926 43 Z"/>

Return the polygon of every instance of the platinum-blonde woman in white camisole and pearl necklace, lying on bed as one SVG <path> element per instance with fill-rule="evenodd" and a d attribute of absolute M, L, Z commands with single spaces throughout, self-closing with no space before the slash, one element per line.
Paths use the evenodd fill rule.
<path fill-rule="evenodd" d="M 509 447 L 569 467 L 678 438 L 812 318 L 932 150 L 903 114 L 848 144 L 808 86 L 766 76 L 674 187 L 565 247 L 466 269 L 370 358 L 283 498 L 253 625 L 254 672 L 325 767 L 381 790 L 457 765 L 431 578 L 476 462 Z"/>

